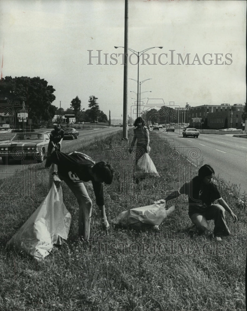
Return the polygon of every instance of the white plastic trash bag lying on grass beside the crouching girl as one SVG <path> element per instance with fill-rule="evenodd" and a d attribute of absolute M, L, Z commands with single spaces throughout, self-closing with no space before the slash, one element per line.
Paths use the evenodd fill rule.
<path fill-rule="evenodd" d="M 123 211 L 112 220 L 113 225 L 123 227 L 141 227 L 141 225 L 160 225 L 162 221 L 175 210 L 175 206 L 165 209 L 165 200 L 154 202 L 152 205 L 132 208 Z"/>

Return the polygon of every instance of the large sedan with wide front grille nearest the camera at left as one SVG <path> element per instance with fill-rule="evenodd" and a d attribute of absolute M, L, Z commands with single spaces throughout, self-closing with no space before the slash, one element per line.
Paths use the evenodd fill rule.
<path fill-rule="evenodd" d="M 6 164 L 10 159 L 22 160 L 25 157 L 30 157 L 38 163 L 43 162 L 47 154 L 49 140 L 47 133 L 17 133 L 11 140 L 0 143 L 2 164 Z"/>

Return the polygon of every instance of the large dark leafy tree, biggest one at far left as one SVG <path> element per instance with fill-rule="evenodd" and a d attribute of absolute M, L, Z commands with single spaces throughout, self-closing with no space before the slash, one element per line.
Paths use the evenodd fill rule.
<path fill-rule="evenodd" d="M 38 124 L 56 114 L 57 107 L 51 104 L 56 99 L 54 91 L 53 86 L 40 77 L 5 77 L 0 83 L 0 97 L 22 97 L 28 118 Z"/>

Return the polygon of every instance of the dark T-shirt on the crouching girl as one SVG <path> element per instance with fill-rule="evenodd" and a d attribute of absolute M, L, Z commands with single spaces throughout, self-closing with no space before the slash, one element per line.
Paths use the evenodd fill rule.
<path fill-rule="evenodd" d="M 180 194 L 188 196 L 189 214 L 193 212 L 203 212 L 215 200 L 221 198 L 219 190 L 215 183 L 202 185 L 199 177 L 194 177 L 190 182 L 185 183 L 179 189 Z"/>

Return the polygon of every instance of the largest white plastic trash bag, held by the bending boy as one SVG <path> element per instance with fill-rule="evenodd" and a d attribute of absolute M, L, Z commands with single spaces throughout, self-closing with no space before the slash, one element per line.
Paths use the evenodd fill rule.
<path fill-rule="evenodd" d="M 70 222 L 71 215 L 63 203 L 62 189 L 57 190 L 52 183 L 45 200 L 8 241 L 7 247 L 43 259 L 49 255 L 53 244 L 60 245 L 62 239 L 67 239 Z"/>

